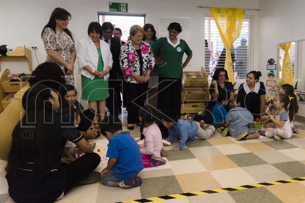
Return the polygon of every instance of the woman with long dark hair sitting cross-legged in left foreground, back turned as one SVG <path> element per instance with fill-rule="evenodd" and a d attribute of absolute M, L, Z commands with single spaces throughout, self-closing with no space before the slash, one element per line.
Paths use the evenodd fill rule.
<path fill-rule="evenodd" d="M 17 202 L 54 202 L 93 171 L 100 157 L 65 115 L 57 113 L 58 96 L 35 84 L 22 97 L 24 117 L 15 126 L 5 176 Z M 61 158 L 66 141 L 84 154 L 75 161 Z"/>

